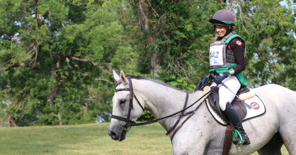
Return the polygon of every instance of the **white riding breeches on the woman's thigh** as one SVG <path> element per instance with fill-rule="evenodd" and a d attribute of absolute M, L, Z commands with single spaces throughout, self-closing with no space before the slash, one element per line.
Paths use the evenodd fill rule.
<path fill-rule="evenodd" d="M 232 92 L 235 94 L 239 90 L 241 84 L 239 83 L 239 80 L 235 76 L 230 76 L 222 81 Z M 217 84 L 213 82 L 213 84 L 210 87 L 215 87 Z M 226 103 L 232 102 L 235 95 L 232 94 L 226 87 L 224 87 L 222 84 L 218 85 L 219 87 L 219 105 L 221 110 L 225 110 Z"/>

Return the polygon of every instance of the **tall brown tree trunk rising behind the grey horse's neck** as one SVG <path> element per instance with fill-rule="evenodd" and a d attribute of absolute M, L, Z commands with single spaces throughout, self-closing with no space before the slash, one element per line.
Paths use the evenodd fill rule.
<path fill-rule="evenodd" d="M 141 25 L 143 27 L 143 29 L 147 32 L 147 38 L 146 38 L 146 46 L 151 45 L 154 40 L 155 40 L 155 35 L 151 35 L 149 34 L 149 24 L 150 24 L 150 12 L 149 12 L 149 2 L 147 0 L 140 0 L 139 1 L 139 10 L 140 10 L 140 22 Z M 150 53 L 152 53 L 152 57 L 151 57 L 151 70 L 150 70 L 150 74 L 152 74 L 153 76 L 157 76 L 158 74 L 157 72 L 159 71 L 157 68 L 160 66 L 159 65 L 159 58 L 157 57 L 157 51 L 149 51 Z"/>

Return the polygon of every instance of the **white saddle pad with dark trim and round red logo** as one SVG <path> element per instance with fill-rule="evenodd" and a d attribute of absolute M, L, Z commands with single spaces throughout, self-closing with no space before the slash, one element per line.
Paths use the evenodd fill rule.
<path fill-rule="evenodd" d="M 213 110 L 213 108 L 210 106 L 208 101 L 205 101 L 205 102 L 206 102 L 206 105 L 207 105 L 207 109 L 209 110 L 209 112 L 213 116 L 213 118 L 220 125 L 226 126 L 225 120 L 223 120 L 220 117 L 220 115 Z M 251 97 L 250 99 L 246 99 L 245 103 L 249 104 L 252 108 L 251 109 L 247 108 L 247 115 L 242 120 L 242 122 L 244 122 L 244 121 L 246 121 L 248 119 L 255 118 L 255 117 L 258 117 L 260 115 L 263 115 L 266 112 L 266 108 L 265 108 L 264 103 L 262 102 L 262 100 L 257 95 Z"/>

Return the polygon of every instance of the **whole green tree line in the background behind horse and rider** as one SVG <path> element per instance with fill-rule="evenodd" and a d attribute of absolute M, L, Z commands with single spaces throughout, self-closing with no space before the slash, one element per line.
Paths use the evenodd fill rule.
<path fill-rule="evenodd" d="M 0 125 L 110 121 L 113 69 L 193 91 L 209 70 L 208 19 L 219 9 L 235 13 L 246 41 L 249 87 L 296 90 L 295 2 L 145 0 L 144 11 L 142 2 L 0 0 Z"/>

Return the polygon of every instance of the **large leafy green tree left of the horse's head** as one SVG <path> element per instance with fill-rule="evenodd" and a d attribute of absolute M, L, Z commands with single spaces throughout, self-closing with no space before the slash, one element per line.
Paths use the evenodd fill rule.
<path fill-rule="evenodd" d="M 0 3 L 1 118 L 20 126 L 109 120 L 111 61 L 131 52 L 114 14 L 118 8 L 59 0 Z"/>

